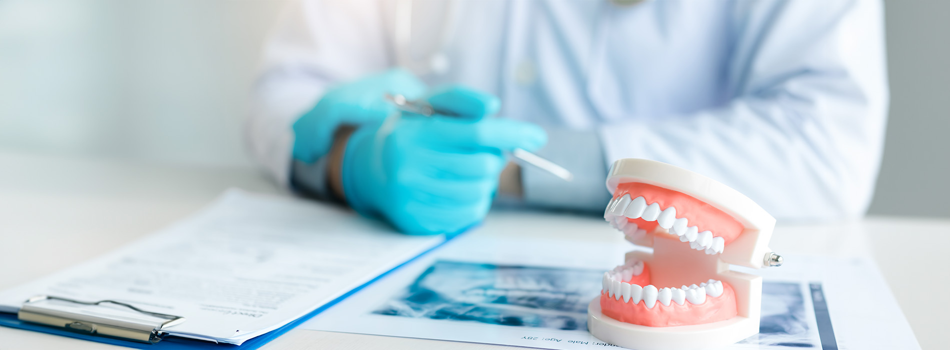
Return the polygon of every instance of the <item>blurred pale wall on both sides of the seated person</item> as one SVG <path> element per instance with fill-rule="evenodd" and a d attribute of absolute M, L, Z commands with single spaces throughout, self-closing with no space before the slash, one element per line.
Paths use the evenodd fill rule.
<path fill-rule="evenodd" d="M 247 96 L 285 5 L 0 1 L 0 151 L 250 166 Z M 885 8 L 892 99 L 870 213 L 950 217 L 950 2 Z"/>

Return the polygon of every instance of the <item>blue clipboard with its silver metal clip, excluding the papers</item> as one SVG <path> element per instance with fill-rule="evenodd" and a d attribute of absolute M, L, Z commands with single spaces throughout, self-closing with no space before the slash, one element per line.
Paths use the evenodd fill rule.
<path fill-rule="evenodd" d="M 178 323 L 173 323 L 173 322 L 183 322 L 183 321 L 187 321 L 187 319 L 185 319 L 184 317 L 166 315 L 166 314 L 148 311 L 148 310 L 145 310 L 133 305 L 126 304 L 121 301 L 107 301 L 107 300 L 106 301 L 74 301 L 67 298 L 60 298 L 60 297 L 55 297 L 55 296 L 37 296 L 34 298 L 30 298 L 28 301 L 24 302 L 24 305 L 32 304 L 31 306 L 33 306 L 33 307 L 28 307 L 28 314 L 32 314 L 32 315 L 29 315 L 27 318 L 30 318 L 30 316 L 40 317 L 40 318 L 59 317 L 60 319 L 64 320 L 62 322 L 64 326 L 58 326 L 58 325 L 52 326 L 49 323 L 45 323 L 45 322 L 25 321 L 20 317 L 20 314 L 22 314 L 22 309 L 23 309 L 22 306 L 21 306 L 21 313 L 18 313 L 18 314 L 0 312 L 0 326 L 7 326 L 11 328 L 24 329 L 28 331 L 47 333 L 47 334 L 75 338 L 75 339 L 80 339 L 80 340 L 92 340 L 92 341 L 97 341 L 97 342 L 103 342 L 106 344 L 119 345 L 119 346 L 136 348 L 136 349 L 214 350 L 214 349 L 227 348 L 227 349 L 240 349 L 240 350 L 255 350 L 263 346 L 264 344 L 270 342 L 271 340 L 275 340 L 277 337 L 280 337 L 284 333 L 287 333 L 287 331 L 295 328 L 297 325 L 300 325 L 300 323 L 303 323 L 305 321 L 312 319 L 314 316 L 330 308 L 336 303 L 349 298 L 354 293 L 360 291 L 361 289 L 372 284 L 373 282 L 379 281 L 380 279 L 386 277 L 393 271 L 402 268 L 403 266 L 409 264 L 409 262 L 416 261 L 417 259 L 438 249 L 439 247 L 445 245 L 446 243 L 448 243 L 449 241 L 451 241 L 452 239 L 460 235 L 461 234 L 447 236 L 446 240 L 443 241 L 442 243 L 438 243 L 435 246 L 432 246 L 431 248 L 429 248 L 428 250 L 420 253 L 419 255 L 392 267 L 390 270 L 383 272 L 382 274 L 379 274 L 378 276 L 372 278 L 370 281 L 365 282 L 355 288 L 352 288 L 351 290 L 347 291 L 343 295 L 337 297 L 336 299 L 333 299 L 333 301 L 329 301 L 317 307 L 316 309 L 314 309 L 314 311 L 311 311 L 307 315 L 304 315 L 303 317 L 296 319 L 295 321 L 291 321 L 287 324 L 284 324 L 273 331 L 262 334 L 250 340 L 245 340 L 240 345 L 218 343 L 215 341 L 207 341 L 207 340 L 180 338 L 180 337 L 161 337 L 161 329 L 163 327 L 170 327 L 174 324 L 178 324 Z M 127 334 L 126 337 L 121 337 L 121 336 L 115 337 L 115 336 L 106 335 L 104 333 L 101 334 L 99 332 L 89 332 L 89 327 L 91 325 L 88 323 L 92 322 L 92 323 L 95 323 L 97 326 L 99 324 L 102 324 L 106 327 L 115 327 L 115 328 L 125 327 L 125 326 L 128 326 L 129 324 L 123 323 L 122 322 L 123 320 L 120 320 L 119 318 L 116 318 L 116 320 L 99 319 L 96 321 L 99 321 L 101 323 L 96 323 L 95 321 L 91 321 L 89 319 L 83 319 L 82 317 L 80 317 L 80 315 L 65 315 L 65 314 L 57 315 L 52 312 L 53 308 L 39 306 L 38 302 L 44 302 L 44 301 L 63 301 L 66 303 L 71 302 L 71 303 L 77 304 L 78 306 L 81 306 L 81 305 L 99 306 L 103 304 L 112 304 L 112 305 L 117 305 L 119 307 L 125 307 L 127 311 L 129 313 L 132 313 L 133 315 L 135 313 L 138 313 L 138 314 L 142 314 L 146 316 L 153 316 L 157 319 L 161 319 L 164 321 L 161 321 L 161 322 L 156 321 L 155 323 L 142 324 L 141 327 L 133 328 L 132 332 Z M 83 324 L 75 324 L 73 327 L 66 326 L 67 324 L 73 324 L 73 321 L 83 323 Z M 151 326 L 151 328 L 148 327 L 149 325 Z M 101 328 L 96 328 L 96 329 L 98 330 Z M 146 334 L 148 334 L 148 336 L 146 336 Z M 153 334 L 156 337 L 158 337 L 157 341 L 151 341 L 152 340 L 151 335 Z"/>

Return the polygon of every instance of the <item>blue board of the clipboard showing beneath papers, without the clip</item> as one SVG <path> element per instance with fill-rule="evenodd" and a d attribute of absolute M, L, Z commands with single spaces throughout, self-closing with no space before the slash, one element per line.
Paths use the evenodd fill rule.
<path fill-rule="evenodd" d="M 119 346 L 131 347 L 131 348 L 136 348 L 136 349 L 154 349 L 154 350 L 161 350 L 161 349 L 177 349 L 177 350 L 178 350 L 178 349 L 183 349 L 183 350 L 191 350 L 191 349 L 194 349 L 194 350 L 240 349 L 240 350 L 254 350 L 254 349 L 257 349 L 257 348 L 263 346 L 264 344 L 270 342 L 271 340 L 274 340 L 274 339 L 276 339 L 277 337 L 280 337 L 280 336 L 283 335 L 284 333 L 287 333 L 287 331 L 293 329 L 293 328 L 296 327 L 297 325 L 300 325 L 300 323 L 303 323 L 303 322 L 305 322 L 305 321 L 307 321 L 307 320 L 310 320 L 311 318 L 313 318 L 313 317 L 316 316 L 317 314 L 323 312 L 323 310 L 326 310 L 326 309 L 330 308 L 331 306 L 333 306 L 333 305 L 336 304 L 337 302 L 340 302 L 340 301 L 343 301 L 344 299 L 347 299 L 348 297 L 352 296 L 354 293 L 356 293 L 356 292 L 360 291 L 361 289 L 365 288 L 367 285 L 370 285 L 370 284 L 372 284 L 373 282 L 379 281 L 380 279 L 386 277 L 387 275 L 389 275 L 389 274 L 392 273 L 393 271 L 398 270 L 399 268 L 401 268 L 401 267 L 403 267 L 403 266 L 409 264 L 409 262 L 413 262 L 413 261 L 415 261 L 415 260 L 417 260 L 417 259 L 419 259 L 419 258 L 425 256 L 425 255 L 428 254 L 429 252 L 434 251 L 435 249 L 437 249 L 437 248 L 439 248 L 439 247 L 445 245 L 446 243 L 448 243 L 449 241 L 451 241 L 452 239 L 454 239 L 455 237 L 458 237 L 458 236 L 461 236 L 461 235 L 450 235 L 450 236 L 447 236 L 447 237 L 446 237 L 446 241 L 443 241 L 442 243 L 438 243 L 438 244 L 436 244 L 435 246 L 433 246 L 433 247 L 431 247 L 431 248 L 428 248 L 428 250 L 426 250 L 426 251 L 420 253 L 419 255 L 413 257 L 412 259 L 409 259 L 409 260 L 407 260 L 406 262 L 402 262 L 402 263 L 396 265 L 395 267 L 392 267 L 389 271 L 386 271 L 386 272 L 380 274 L 379 276 L 376 276 L 375 278 L 373 278 L 373 279 L 370 280 L 369 282 L 363 283 L 362 285 L 353 288 L 352 290 L 350 290 L 350 291 L 348 291 L 347 293 L 345 293 L 345 294 L 339 296 L 338 298 L 334 299 L 333 301 L 330 301 L 330 302 L 327 302 L 327 303 L 323 304 L 322 306 L 316 308 L 314 311 L 311 311 L 309 314 L 304 315 L 303 317 L 301 317 L 301 318 L 299 318 L 299 319 L 296 319 L 295 321 L 291 321 L 290 323 L 284 324 L 284 325 L 281 326 L 280 328 L 277 328 L 277 329 L 275 329 L 275 330 L 273 330 L 273 331 L 267 332 L 267 333 L 265 333 L 265 334 L 262 334 L 262 335 L 260 335 L 260 336 L 255 337 L 255 338 L 252 338 L 252 339 L 250 339 L 250 340 L 246 340 L 246 341 L 244 341 L 244 342 L 243 342 L 242 344 L 240 344 L 240 345 L 226 344 L 226 343 L 216 343 L 216 342 L 204 341 L 204 340 L 193 340 L 193 339 L 179 338 L 179 337 L 167 337 L 167 338 L 165 338 L 164 340 L 161 340 L 161 341 L 159 341 L 159 342 L 157 342 L 157 343 L 149 344 L 149 343 L 143 343 L 143 342 L 136 342 L 136 341 L 132 341 L 132 340 L 121 340 L 121 339 L 114 339 L 114 338 L 106 338 L 106 337 L 101 337 L 101 336 L 95 336 L 95 335 L 86 334 L 86 333 L 72 332 L 72 331 L 68 331 L 68 330 L 66 330 L 66 329 L 64 329 L 64 328 L 51 327 L 51 326 L 47 326 L 47 325 L 43 325 L 43 324 L 37 324 L 37 323 L 31 323 L 31 322 L 26 322 L 26 321 L 20 321 L 20 320 L 17 318 L 17 316 L 16 316 L 15 314 L 10 314 L 10 313 L 0 313 L 0 325 L 2 325 L 2 326 L 7 326 L 7 327 L 12 327 L 12 328 L 26 329 L 26 330 L 29 330 L 29 331 L 35 331 L 35 332 L 42 332 L 42 333 L 54 334 L 54 335 L 57 335 L 57 336 L 63 336 L 63 337 L 81 339 L 81 340 L 92 340 L 92 341 L 104 342 L 104 343 L 106 343 L 106 344 L 119 345 Z"/>

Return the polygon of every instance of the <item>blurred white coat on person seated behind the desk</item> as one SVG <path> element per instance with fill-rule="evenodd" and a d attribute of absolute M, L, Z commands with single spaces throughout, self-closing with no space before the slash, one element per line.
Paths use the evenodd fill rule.
<path fill-rule="evenodd" d="M 605 166 L 683 166 L 783 219 L 864 214 L 888 97 L 877 0 L 303 1 L 263 61 L 247 134 L 282 183 L 327 87 L 402 66 L 597 132 Z"/>

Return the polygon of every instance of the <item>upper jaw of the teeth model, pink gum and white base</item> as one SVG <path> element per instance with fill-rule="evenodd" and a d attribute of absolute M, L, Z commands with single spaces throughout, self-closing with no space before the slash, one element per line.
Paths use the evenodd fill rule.
<path fill-rule="evenodd" d="M 775 218 L 728 185 L 645 159 L 614 162 L 606 185 L 614 196 L 604 219 L 624 231 L 628 241 L 653 246 L 655 237 L 678 239 L 725 263 L 750 268 L 778 264 L 769 260 Z"/>

